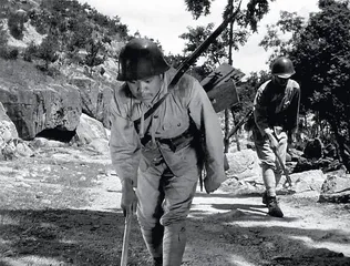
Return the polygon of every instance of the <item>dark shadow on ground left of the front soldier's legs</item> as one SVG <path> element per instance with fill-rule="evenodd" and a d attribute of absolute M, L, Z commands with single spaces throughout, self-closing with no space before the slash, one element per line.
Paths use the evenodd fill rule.
<path fill-rule="evenodd" d="M 1 209 L 0 232 L 0 265 L 119 265 L 124 217 L 80 209 Z M 128 265 L 147 265 L 136 218 L 130 242 Z"/>

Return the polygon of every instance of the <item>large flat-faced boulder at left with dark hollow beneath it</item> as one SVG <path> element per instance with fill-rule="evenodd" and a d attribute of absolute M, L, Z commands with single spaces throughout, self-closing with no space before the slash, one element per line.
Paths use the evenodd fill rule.
<path fill-rule="evenodd" d="M 0 99 L 23 140 L 48 129 L 74 131 L 82 113 L 80 91 L 66 83 L 19 88 L 3 82 Z"/>

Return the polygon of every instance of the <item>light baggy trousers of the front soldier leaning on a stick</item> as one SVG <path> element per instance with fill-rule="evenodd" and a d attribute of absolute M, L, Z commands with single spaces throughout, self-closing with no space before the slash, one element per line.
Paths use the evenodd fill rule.
<path fill-rule="evenodd" d="M 151 256 L 163 266 L 179 266 L 186 245 L 185 219 L 198 181 L 198 168 L 175 176 L 164 161 L 140 171 L 137 219 Z"/>

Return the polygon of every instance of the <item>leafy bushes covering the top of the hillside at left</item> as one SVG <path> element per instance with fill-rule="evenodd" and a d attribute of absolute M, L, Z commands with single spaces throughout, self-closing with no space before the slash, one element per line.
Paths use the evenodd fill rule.
<path fill-rule="evenodd" d="M 0 4 L 0 14 L 2 19 L 8 19 L 10 33 L 14 38 L 22 39 L 27 21 L 39 33 L 47 35 L 41 44 L 31 43 L 21 54 L 25 61 L 33 62 L 47 73 L 58 59 L 60 62 L 85 65 L 91 73 L 105 58 L 115 57 L 112 48 L 116 42 L 130 38 L 127 27 L 121 23 L 119 17 L 101 14 L 78 0 L 38 1 L 39 7 L 29 1 L 4 2 L 4 6 L 2 2 Z M 7 59 L 17 58 L 16 51 L 6 47 L 7 38 L 0 38 L 1 54 Z"/>

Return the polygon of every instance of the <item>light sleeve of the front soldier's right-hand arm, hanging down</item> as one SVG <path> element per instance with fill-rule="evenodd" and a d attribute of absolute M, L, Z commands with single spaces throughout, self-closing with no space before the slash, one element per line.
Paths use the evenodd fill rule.
<path fill-rule="evenodd" d="M 195 81 L 189 96 L 189 115 L 197 129 L 204 133 L 204 157 L 206 178 L 218 182 L 226 180 L 224 171 L 224 141 L 220 123 L 214 108 L 202 88 Z"/>

